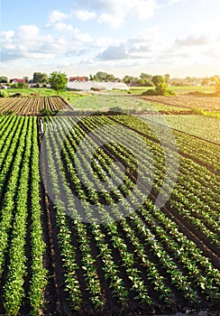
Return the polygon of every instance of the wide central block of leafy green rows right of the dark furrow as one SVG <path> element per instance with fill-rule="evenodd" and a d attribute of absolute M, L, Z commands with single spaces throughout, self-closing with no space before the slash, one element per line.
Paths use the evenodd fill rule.
<path fill-rule="evenodd" d="M 115 170 L 111 176 L 115 181 L 124 176 L 124 184 L 114 194 L 105 191 L 102 181 L 105 180 L 114 157 L 124 161 L 130 170 L 135 169 L 132 155 L 119 145 L 120 137 L 117 139 L 115 135 L 117 144 L 107 144 L 107 147 L 99 148 L 92 165 L 87 162 L 87 151 L 94 147 L 94 139 L 90 139 L 84 152 L 76 157 L 78 144 L 90 131 L 105 125 L 105 120 L 107 118 L 92 117 L 82 120 L 78 125 L 71 118 L 60 117 L 54 121 L 46 121 L 48 128 L 44 135 L 47 149 L 45 161 L 48 162 L 50 173 L 50 189 L 52 188 L 55 197 L 56 220 L 60 228 L 60 253 L 70 305 L 75 310 L 85 307 L 83 297 L 86 292 L 94 309 L 104 309 L 109 299 L 104 287 L 106 283 L 112 296 L 120 304 L 137 301 L 147 306 L 158 302 L 168 306 L 177 304 L 179 295 L 182 302 L 195 306 L 205 302 L 215 303 L 219 297 L 219 272 L 197 245 L 188 240 L 177 223 L 156 208 L 152 200 L 145 200 L 136 212 L 133 211 L 131 201 L 124 200 L 124 194 L 127 191 L 131 193 L 133 188 L 131 173 L 124 176 L 122 171 Z M 70 130 L 69 125 L 72 125 Z M 109 135 L 97 133 L 96 137 L 107 143 Z M 132 134 L 127 134 L 134 149 L 132 137 Z M 60 160 L 60 144 L 63 139 L 65 141 Z M 154 146 L 155 143 L 151 142 L 151 148 Z M 145 153 L 143 151 L 137 154 Z M 162 171 L 163 160 L 160 155 L 156 163 L 157 169 Z M 78 169 L 81 180 L 78 178 Z M 97 180 L 99 179 L 98 184 L 96 183 L 98 190 L 95 183 L 89 180 L 91 169 L 96 171 Z M 155 190 L 159 189 L 161 175 L 158 172 L 156 176 L 155 183 L 158 186 L 155 185 Z M 143 172 L 142 177 L 144 176 L 146 173 Z M 180 186 L 175 189 L 177 195 L 179 188 Z M 98 194 L 100 191 L 101 200 Z M 136 198 L 142 191 L 137 190 L 132 194 Z M 80 200 L 80 207 L 77 198 Z M 106 205 L 115 205 L 115 200 L 124 200 L 124 208 L 131 209 L 130 215 L 127 218 L 121 217 L 118 222 L 114 221 L 115 218 L 120 218 L 118 209 L 112 208 L 110 212 L 105 209 Z M 92 205 L 96 205 L 96 212 Z M 184 206 L 179 200 L 179 208 L 186 207 L 190 209 L 189 204 Z M 72 219 L 65 217 L 65 213 Z M 215 217 L 215 209 L 213 214 Z M 90 223 L 88 226 L 82 223 L 82 216 Z M 189 214 L 188 218 L 191 217 Z M 199 225 L 202 223 L 200 221 Z M 212 225 L 211 221 L 210 224 Z M 206 230 L 208 237 L 216 238 L 215 232 L 212 233 L 209 228 Z M 92 250 L 92 239 L 96 241 L 96 255 Z M 68 241 L 64 244 L 63 240 Z M 77 245 L 73 245 L 73 240 L 77 240 Z M 69 244 L 71 246 L 68 253 L 66 246 Z M 101 268 L 96 264 L 98 258 L 101 259 Z M 69 280 L 71 266 L 75 267 L 71 274 L 72 282 Z M 81 283 L 79 274 L 83 275 L 86 287 Z"/>

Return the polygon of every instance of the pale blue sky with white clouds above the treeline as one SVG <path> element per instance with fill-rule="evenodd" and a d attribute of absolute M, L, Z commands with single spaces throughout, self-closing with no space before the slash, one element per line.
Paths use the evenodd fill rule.
<path fill-rule="evenodd" d="M 0 76 L 220 75 L 220 0 L 0 0 Z"/>

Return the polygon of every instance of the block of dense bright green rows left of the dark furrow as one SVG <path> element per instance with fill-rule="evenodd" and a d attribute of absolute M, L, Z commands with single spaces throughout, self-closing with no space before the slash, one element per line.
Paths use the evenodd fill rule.
<path fill-rule="evenodd" d="M 5 129 L 7 140 L 13 139 L 13 142 L 8 144 L 7 159 L 5 147 L 1 152 L 4 153 L 1 155 L 4 159 L 1 190 L 5 188 L 5 192 L 2 195 L 3 206 L 0 213 L 0 282 L 3 288 L 0 307 L 4 307 L 7 315 L 17 315 L 23 302 L 28 300 L 30 314 L 38 315 L 43 304 L 46 270 L 42 266 L 45 246 L 41 228 L 37 120 L 36 117 L 19 116 L 7 116 L 6 119 L 10 122 L 8 127 L 11 126 L 11 133 L 8 134 Z M 27 236 L 28 216 L 31 218 L 30 236 Z M 26 268 L 27 238 L 31 240 L 31 271 Z M 3 274 L 5 277 L 1 279 Z M 24 283 L 27 281 L 26 288 Z M 29 293 L 26 289 L 29 289 Z"/>

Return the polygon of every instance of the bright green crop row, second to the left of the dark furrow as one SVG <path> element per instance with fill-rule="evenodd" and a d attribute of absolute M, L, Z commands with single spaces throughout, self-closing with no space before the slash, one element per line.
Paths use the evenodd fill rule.
<path fill-rule="evenodd" d="M 22 165 L 18 180 L 12 236 L 9 246 L 9 265 L 4 285 L 4 307 L 6 314 L 18 314 L 24 298 L 24 276 L 26 271 L 25 237 L 27 224 L 27 197 L 29 166 L 32 152 L 32 120 L 27 122 L 27 135 L 24 137 Z"/>

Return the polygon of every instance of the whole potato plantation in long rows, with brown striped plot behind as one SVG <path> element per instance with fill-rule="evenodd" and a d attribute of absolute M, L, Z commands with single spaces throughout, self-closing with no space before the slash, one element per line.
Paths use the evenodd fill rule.
<path fill-rule="evenodd" d="M 220 145 L 219 135 L 212 141 L 210 127 L 206 137 L 206 117 L 204 135 L 179 131 L 176 123 L 178 177 L 170 199 L 159 208 L 155 201 L 168 190 L 163 147 L 172 155 L 169 127 L 147 124 L 149 116 L 38 117 L 41 108 L 68 106 L 59 98 L 0 100 L 1 113 L 17 114 L 0 116 L 0 314 L 151 315 L 204 309 L 217 314 Z M 99 146 L 87 163 L 87 150 L 108 139 L 99 129 L 106 125 L 125 128 L 135 157 L 146 162 L 141 170 L 116 137 L 115 143 Z M 96 137 L 89 138 L 76 165 L 78 146 L 93 131 Z M 146 147 L 137 150 L 136 136 Z M 135 211 L 126 200 L 129 215 L 114 220 L 120 217 L 117 209 L 106 213 L 105 206 L 142 195 L 144 184 L 133 188 L 137 172 L 146 183 L 151 177 L 148 151 L 154 165 L 151 191 Z M 115 191 L 105 191 L 115 161 L 126 172 L 115 169 L 111 176 L 124 181 Z M 90 170 L 100 191 L 87 176 Z"/>

